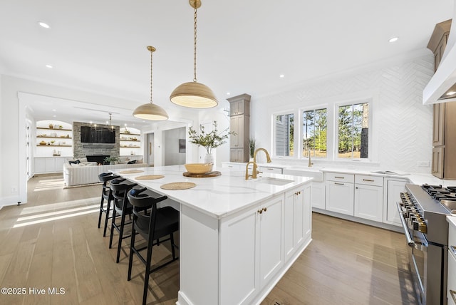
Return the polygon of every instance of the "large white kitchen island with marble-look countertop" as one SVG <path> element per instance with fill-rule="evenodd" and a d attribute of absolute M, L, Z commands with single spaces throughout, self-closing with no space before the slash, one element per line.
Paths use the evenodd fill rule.
<path fill-rule="evenodd" d="M 309 177 L 245 180 L 245 170 L 221 168 L 218 177 L 192 178 L 183 165 L 135 170 L 143 172 L 113 172 L 180 205 L 177 304 L 259 304 L 311 242 Z M 142 175 L 164 177 L 135 179 Z M 160 188 L 170 182 L 196 187 Z"/>

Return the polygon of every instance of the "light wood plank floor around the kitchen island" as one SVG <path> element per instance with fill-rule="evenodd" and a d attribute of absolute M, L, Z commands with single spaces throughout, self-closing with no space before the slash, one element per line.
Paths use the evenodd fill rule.
<path fill-rule="evenodd" d="M 99 198 L 100 186 L 63 190 L 61 175 L 36 176 L 26 205 L 0 210 L 0 287 L 26 289 L 0 304 L 140 304 L 144 267 L 135 259 L 127 281 L 125 252 L 115 264 L 117 239 L 108 249 L 97 228 Z M 315 213 L 312 227 L 314 240 L 262 304 L 416 303 L 402 234 Z M 167 257 L 167 246 L 155 254 Z M 147 304 L 175 304 L 178 290 L 175 262 L 151 276 Z"/>

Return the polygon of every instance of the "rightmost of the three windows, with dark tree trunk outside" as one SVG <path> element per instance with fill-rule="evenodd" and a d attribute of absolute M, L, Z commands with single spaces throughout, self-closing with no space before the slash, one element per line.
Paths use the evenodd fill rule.
<path fill-rule="evenodd" d="M 338 107 L 338 157 L 368 157 L 369 103 Z"/>

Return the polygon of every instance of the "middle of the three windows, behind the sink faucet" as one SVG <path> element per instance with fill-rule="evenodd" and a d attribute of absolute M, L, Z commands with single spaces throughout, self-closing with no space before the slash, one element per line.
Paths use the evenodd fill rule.
<path fill-rule="evenodd" d="M 326 157 L 326 108 L 303 111 L 302 127 L 302 157 Z"/>

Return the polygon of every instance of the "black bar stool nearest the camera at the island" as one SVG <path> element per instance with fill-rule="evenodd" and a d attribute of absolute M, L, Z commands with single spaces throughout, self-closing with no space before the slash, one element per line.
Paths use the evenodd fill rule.
<path fill-rule="evenodd" d="M 135 189 L 128 192 L 128 200 L 133 205 L 133 226 L 131 232 L 130 242 L 130 257 L 128 260 L 128 281 L 131 279 L 131 269 L 133 265 L 133 254 L 136 254 L 140 261 L 145 264 L 144 275 L 144 290 L 142 294 L 142 304 L 145 305 L 147 299 L 147 289 L 149 286 L 149 276 L 152 272 L 175 262 L 178 257 L 175 254 L 175 247 L 179 249 L 174 243 L 173 233 L 179 230 L 179 212 L 172 207 L 157 208 L 157 203 L 167 199 L 167 196 L 150 197 L 143 193 L 146 189 Z M 147 246 L 137 248 L 135 246 L 135 235 L 139 233 L 146 241 Z M 164 264 L 155 266 L 153 269 L 150 264 L 152 263 L 152 247 L 158 245 L 155 240 L 161 237 L 169 237 L 160 241 L 171 242 L 172 259 Z M 140 251 L 147 248 L 146 258 L 142 257 Z"/>

